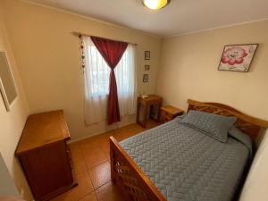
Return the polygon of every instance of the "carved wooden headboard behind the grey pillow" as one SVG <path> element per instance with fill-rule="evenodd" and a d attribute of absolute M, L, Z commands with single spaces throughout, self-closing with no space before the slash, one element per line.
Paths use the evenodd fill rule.
<path fill-rule="evenodd" d="M 188 111 L 189 110 L 215 113 L 224 116 L 235 116 L 238 118 L 238 120 L 235 122 L 235 126 L 244 133 L 247 133 L 247 135 L 249 135 L 253 140 L 258 137 L 260 130 L 268 128 L 268 121 L 241 113 L 228 105 L 218 103 L 202 103 L 188 99 Z"/>

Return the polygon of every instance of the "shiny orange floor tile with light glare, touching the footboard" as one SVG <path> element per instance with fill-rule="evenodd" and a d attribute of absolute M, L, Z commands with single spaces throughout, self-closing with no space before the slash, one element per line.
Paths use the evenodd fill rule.
<path fill-rule="evenodd" d="M 110 163 L 108 162 L 101 163 L 90 169 L 88 172 L 92 185 L 95 189 L 103 186 L 111 180 L 111 169 Z"/>

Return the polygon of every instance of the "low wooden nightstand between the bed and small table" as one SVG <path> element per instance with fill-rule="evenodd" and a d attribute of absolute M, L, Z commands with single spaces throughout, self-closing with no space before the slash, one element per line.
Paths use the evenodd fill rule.
<path fill-rule="evenodd" d="M 184 113 L 183 110 L 180 110 L 180 108 L 173 107 L 171 105 L 166 105 L 160 108 L 161 115 L 160 115 L 160 121 L 167 122 L 174 119 L 176 116 L 182 115 Z"/>

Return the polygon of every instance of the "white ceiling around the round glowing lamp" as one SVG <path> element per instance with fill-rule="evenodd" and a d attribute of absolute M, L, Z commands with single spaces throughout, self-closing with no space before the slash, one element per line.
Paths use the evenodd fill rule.
<path fill-rule="evenodd" d="M 141 0 L 30 0 L 161 37 L 268 19 L 267 0 L 172 0 L 151 11 Z"/>

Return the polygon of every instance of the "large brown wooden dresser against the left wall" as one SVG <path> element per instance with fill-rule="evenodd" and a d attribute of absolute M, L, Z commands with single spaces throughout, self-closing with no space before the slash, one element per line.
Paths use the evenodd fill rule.
<path fill-rule="evenodd" d="M 49 200 L 77 185 L 66 143 L 69 139 L 63 111 L 29 115 L 16 155 L 35 200 Z"/>

